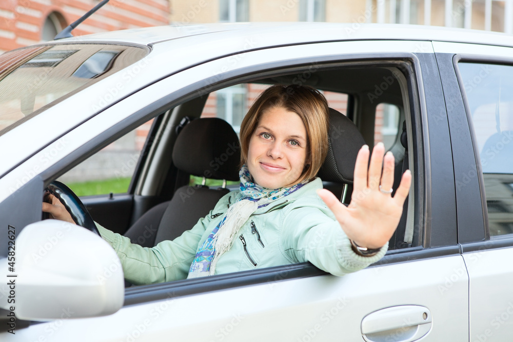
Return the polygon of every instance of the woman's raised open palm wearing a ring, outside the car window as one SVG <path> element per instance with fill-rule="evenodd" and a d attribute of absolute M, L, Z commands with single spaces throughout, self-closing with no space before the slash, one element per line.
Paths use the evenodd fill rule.
<path fill-rule="evenodd" d="M 360 149 L 354 166 L 353 192 L 348 207 L 326 189 L 317 192 L 335 214 L 347 237 L 358 246 L 369 249 L 383 247 L 396 230 L 411 184 L 411 172 L 406 170 L 394 196 L 387 193 L 393 184 L 394 158 L 391 152 L 384 153 L 384 145 L 377 144 L 367 171 L 369 147 L 365 145 Z"/>

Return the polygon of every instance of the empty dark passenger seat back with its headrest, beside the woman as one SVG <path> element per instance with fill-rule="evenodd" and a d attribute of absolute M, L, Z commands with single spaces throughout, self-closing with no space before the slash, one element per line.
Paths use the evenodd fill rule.
<path fill-rule="evenodd" d="M 185 126 L 173 147 L 179 170 L 204 178 L 239 180 L 240 145 L 233 128 L 220 118 L 200 118 Z M 183 186 L 170 201 L 141 216 L 125 233 L 132 243 L 152 247 L 191 229 L 228 193 L 228 189 Z"/>

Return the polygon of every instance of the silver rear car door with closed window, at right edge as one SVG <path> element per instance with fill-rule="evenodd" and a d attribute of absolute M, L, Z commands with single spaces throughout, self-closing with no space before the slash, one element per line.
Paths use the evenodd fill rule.
<path fill-rule="evenodd" d="M 470 340 L 513 335 L 513 49 L 435 43 L 444 71 L 458 203 L 469 274 Z M 456 163 L 458 155 L 458 163 Z"/>

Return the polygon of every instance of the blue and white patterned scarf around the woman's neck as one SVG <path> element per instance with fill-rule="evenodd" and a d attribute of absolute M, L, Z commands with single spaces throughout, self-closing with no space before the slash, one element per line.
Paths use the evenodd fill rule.
<path fill-rule="evenodd" d="M 251 182 L 246 165 L 242 166 L 239 175 L 241 191 L 236 197 L 236 202 L 228 208 L 221 222 L 196 252 L 188 279 L 213 275 L 219 258 L 231 248 L 236 234 L 255 210 L 268 206 L 274 200 L 285 197 L 304 185 L 298 183 L 289 188 L 263 188 Z"/>

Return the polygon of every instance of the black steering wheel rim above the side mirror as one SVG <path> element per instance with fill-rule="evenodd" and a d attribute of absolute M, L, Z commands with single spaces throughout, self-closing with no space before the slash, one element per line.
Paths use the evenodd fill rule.
<path fill-rule="evenodd" d="M 80 198 L 78 198 L 70 188 L 63 183 L 54 180 L 44 191 L 44 196 L 47 196 L 48 194 L 54 195 L 61 201 L 66 210 L 70 213 L 73 221 L 78 226 L 82 226 L 93 233 L 100 235 L 91 214 L 89 214 L 89 211 L 87 211 Z"/>

